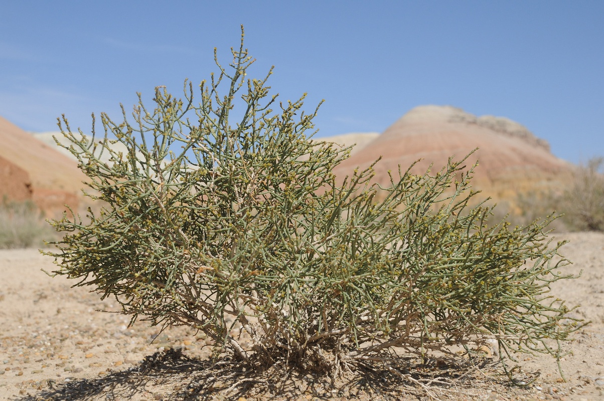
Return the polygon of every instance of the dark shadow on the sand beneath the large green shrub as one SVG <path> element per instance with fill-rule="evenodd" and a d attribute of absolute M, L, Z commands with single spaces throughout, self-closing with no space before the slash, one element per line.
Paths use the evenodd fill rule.
<path fill-rule="evenodd" d="M 484 361 L 483 361 L 484 362 Z M 170 348 L 147 356 L 139 367 L 109 373 L 98 379 L 80 379 L 54 383 L 36 394 L 15 397 L 12 401 L 58 400 L 225 400 L 239 397 L 261 397 L 263 400 L 298 399 L 399 399 L 397 396 L 425 397 L 431 390 L 447 392 L 463 386 L 473 376 L 460 367 L 442 370 L 429 365 L 399 366 L 404 375 L 384 370 L 362 369 L 333 382 L 326 376 L 291 372 L 287 376 L 268 371 L 246 370 L 232 361 L 200 361 Z M 485 367 L 485 364 L 481 364 Z M 409 373 L 411 368 L 414 373 Z M 474 367 L 480 368 L 478 366 Z M 422 372 L 423 370 L 423 372 Z M 405 379 L 406 377 L 406 379 Z M 432 377 L 430 380 L 429 377 Z M 429 388 L 420 382 L 431 382 Z M 394 398 L 393 398 L 394 397 Z"/>

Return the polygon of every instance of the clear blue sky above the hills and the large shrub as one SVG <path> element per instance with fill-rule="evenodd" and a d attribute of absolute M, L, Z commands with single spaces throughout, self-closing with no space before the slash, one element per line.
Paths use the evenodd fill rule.
<path fill-rule="evenodd" d="M 0 115 L 30 131 L 66 114 L 182 94 L 239 45 L 281 100 L 325 99 L 318 136 L 381 132 L 420 104 L 524 124 L 573 162 L 604 155 L 602 1 L 0 0 Z"/>

